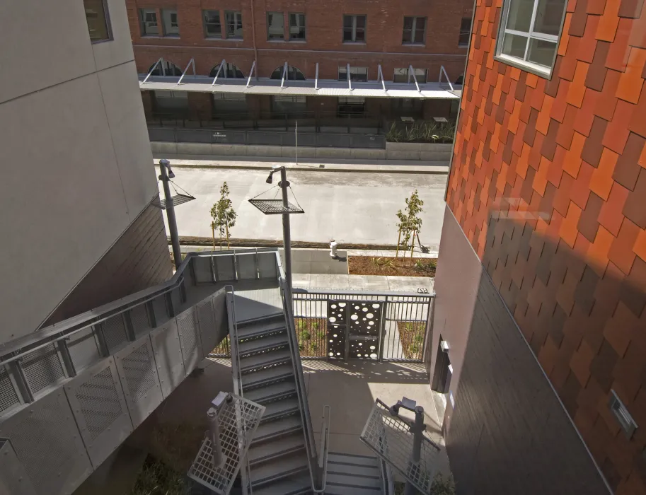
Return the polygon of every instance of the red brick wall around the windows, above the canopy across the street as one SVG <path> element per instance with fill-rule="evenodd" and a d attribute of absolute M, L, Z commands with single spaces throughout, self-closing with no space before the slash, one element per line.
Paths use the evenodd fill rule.
<path fill-rule="evenodd" d="M 437 81 L 444 65 L 455 81 L 464 69 L 466 48 L 458 47 L 460 23 L 470 18 L 471 0 L 429 2 L 425 0 L 127 0 L 130 31 L 137 70 L 145 73 L 159 57 L 173 62 L 182 70 L 195 58 L 197 74 L 209 71 L 222 59 L 238 66 L 248 76 L 257 57 L 258 75 L 269 77 L 284 62 L 298 67 L 313 79 L 316 63 L 319 78 L 338 78 L 338 66 L 350 63 L 367 66 L 370 80 L 377 78 L 381 64 L 386 79 L 392 79 L 395 68 L 428 69 L 428 80 Z M 142 37 L 140 8 L 177 8 L 180 37 Z M 224 26 L 224 11 L 241 11 L 243 40 L 212 40 L 204 37 L 202 10 L 218 10 Z M 267 40 L 267 12 L 305 13 L 306 41 Z M 342 42 L 343 14 L 367 15 L 365 43 Z M 424 45 L 403 45 L 404 16 L 427 17 Z M 255 18 L 255 47 L 252 17 Z M 287 26 L 287 16 L 285 24 Z M 224 27 L 223 27 L 224 30 Z"/>

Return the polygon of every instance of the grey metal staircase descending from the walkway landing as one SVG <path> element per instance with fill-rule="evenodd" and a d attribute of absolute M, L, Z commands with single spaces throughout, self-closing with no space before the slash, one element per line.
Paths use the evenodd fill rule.
<path fill-rule="evenodd" d="M 236 301 L 227 301 L 233 388 L 266 407 L 242 470 L 243 493 L 311 494 L 318 464 L 296 333 L 284 313 L 236 321 L 244 318 Z"/>

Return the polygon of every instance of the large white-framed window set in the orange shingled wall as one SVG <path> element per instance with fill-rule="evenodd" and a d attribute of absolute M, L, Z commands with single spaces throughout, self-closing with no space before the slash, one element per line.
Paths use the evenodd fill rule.
<path fill-rule="evenodd" d="M 566 0 L 505 0 L 496 57 L 550 76 L 565 18 Z"/>

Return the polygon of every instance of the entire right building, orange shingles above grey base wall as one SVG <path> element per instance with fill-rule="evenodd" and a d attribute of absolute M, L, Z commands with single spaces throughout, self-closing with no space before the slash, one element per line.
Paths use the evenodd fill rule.
<path fill-rule="evenodd" d="M 459 493 L 646 494 L 643 4 L 477 1 L 435 284 Z"/>

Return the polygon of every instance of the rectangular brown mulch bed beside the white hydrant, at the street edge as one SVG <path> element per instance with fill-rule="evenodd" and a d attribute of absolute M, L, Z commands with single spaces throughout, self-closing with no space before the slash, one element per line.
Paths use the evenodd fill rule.
<path fill-rule="evenodd" d="M 350 275 L 435 276 L 437 258 L 403 258 L 391 256 L 349 256 Z"/>

